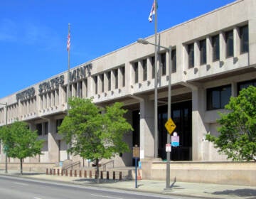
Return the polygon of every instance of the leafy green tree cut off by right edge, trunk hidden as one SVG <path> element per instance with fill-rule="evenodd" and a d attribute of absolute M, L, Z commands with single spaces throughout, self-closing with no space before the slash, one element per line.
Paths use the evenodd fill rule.
<path fill-rule="evenodd" d="M 256 87 L 240 91 L 238 97 L 231 97 L 225 106 L 228 113 L 219 113 L 218 137 L 208 134 L 219 153 L 233 161 L 250 161 L 256 156 Z"/>

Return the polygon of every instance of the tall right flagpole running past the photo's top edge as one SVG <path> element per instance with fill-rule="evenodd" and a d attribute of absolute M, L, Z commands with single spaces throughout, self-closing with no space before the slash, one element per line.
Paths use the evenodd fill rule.
<path fill-rule="evenodd" d="M 157 67 L 157 0 L 154 0 L 154 11 L 155 11 L 155 59 L 154 59 L 154 158 L 158 158 L 158 111 L 157 111 L 157 82 L 158 82 L 158 67 Z"/>

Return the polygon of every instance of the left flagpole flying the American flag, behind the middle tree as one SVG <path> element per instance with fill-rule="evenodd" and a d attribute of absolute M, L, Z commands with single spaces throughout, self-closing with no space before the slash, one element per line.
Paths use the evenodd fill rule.
<path fill-rule="evenodd" d="M 68 98 L 70 97 L 70 23 L 68 23 L 68 43 L 67 43 L 67 50 L 68 50 L 68 78 L 67 78 L 67 114 L 69 110 Z M 70 148 L 68 144 L 68 149 Z M 67 152 L 67 159 L 70 159 L 70 154 Z"/>

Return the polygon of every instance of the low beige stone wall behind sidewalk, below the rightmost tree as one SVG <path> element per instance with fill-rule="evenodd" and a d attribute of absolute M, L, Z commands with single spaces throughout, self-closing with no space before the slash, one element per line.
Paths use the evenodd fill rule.
<path fill-rule="evenodd" d="M 256 185 L 256 162 L 171 162 L 170 169 L 171 181 Z M 144 179 L 166 180 L 166 162 L 142 161 L 142 171 Z"/>

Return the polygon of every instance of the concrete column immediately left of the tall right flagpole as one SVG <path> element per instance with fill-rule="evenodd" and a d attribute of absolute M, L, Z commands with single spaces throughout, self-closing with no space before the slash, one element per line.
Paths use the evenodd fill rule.
<path fill-rule="evenodd" d="M 140 156 L 154 158 L 154 101 L 146 97 L 139 104 Z"/>

